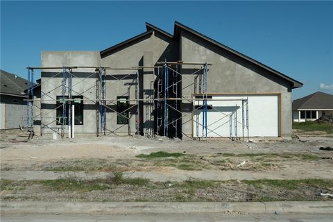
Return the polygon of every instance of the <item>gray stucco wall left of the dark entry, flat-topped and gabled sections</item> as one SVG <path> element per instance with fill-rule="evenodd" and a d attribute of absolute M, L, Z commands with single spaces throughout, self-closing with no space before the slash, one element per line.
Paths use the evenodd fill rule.
<path fill-rule="evenodd" d="M 175 56 L 176 55 L 176 56 Z M 178 58 L 178 44 L 164 37 L 159 33 L 146 35 L 142 39 L 127 44 L 126 46 L 112 51 L 108 56 L 101 58 L 99 52 L 94 51 L 42 51 L 43 67 L 62 66 L 108 66 L 112 68 L 130 68 L 137 66 L 154 66 L 156 62 L 167 59 Z M 75 126 L 75 133 L 95 134 L 96 133 L 96 80 L 95 69 L 73 69 L 72 95 L 83 94 L 84 96 L 84 123 L 82 126 Z M 106 109 L 107 134 L 127 135 L 137 132 L 137 102 L 130 103 L 130 124 L 117 124 L 117 96 L 128 96 L 130 100 L 137 98 L 135 85 L 139 81 L 142 87 L 139 90 L 139 99 L 153 99 L 154 95 L 154 69 L 107 69 L 106 70 L 106 99 L 109 108 Z M 138 75 L 139 74 L 139 78 Z M 83 78 L 87 77 L 89 78 Z M 82 78 L 80 78 L 82 77 Z M 60 133 L 61 125 L 56 124 L 56 96 L 61 95 L 62 69 L 42 70 L 40 132 L 49 134 Z M 92 101 L 89 101 L 91 99 Z M 37 103 L 35 104 L 37 105 Z M 141 122 L 142 133 L 153 135 L 154 131 L 154 103 L 140 102 L 139 121 Z M 35 110 L 37 113 L 38 110 Z M 38 118 L 38 117 L 37 117 Z M 35 121 L 36 119 L 35 118 Z M 35 129 L 38 130 L 38 126 Z M 67 128 L 65 129 L 67 133 Z"/>

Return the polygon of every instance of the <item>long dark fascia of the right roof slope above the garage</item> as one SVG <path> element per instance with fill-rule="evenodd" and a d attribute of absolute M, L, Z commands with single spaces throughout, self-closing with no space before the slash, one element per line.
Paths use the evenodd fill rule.
<path fill-rule="evenodd" d="M 236 50 L 234 50 L 234 49 L 231 49 L 230 47 L 225 46 L 224 44 L 221 44 L 220 42 L 217 42 L 216 40 L 213 40 L 213 39 L 210 38 L 210 37 L 207 37 L 207 36 L 205 36 L 205 35 L 203 35 L 203 34 L 201 34 L 201 33 L 198 33 L 198 32 L 195 31 L 194 29 L 189 28 L 189 27 L 187 27 L 187 26 L 185 26 L 185 25 L 183 25 L 183 24 L 180 24 L 179 22 L 176 21 L 176 22 L 175 22 L 175 28 L 174 28 L 174 34 L 173 34 L 173 36 L 174 36 L 174 37 L 179 37 L 179 35 L 180 35 L 180 31 L 181 31 L 181 30 L 185 30 L 185 31 L 187 31 L 187 32 L 189 32 L 189 33 L 191 33 L 191 34 L 194 34 L 194 35 L 196 35 L 196 36 L 198 36 L 198 37 L 201 37 L 201 38 L 203 38 L 203 40 L 206 40 L 207 42 L 210 42 L 210 43 L 212 43 L 212 44 L 215 44 L 216 46 L 219 46 L 219 47 L 221 47 L 222 49 L 225 49 L 225 50 L 227 50 L 227 51 L 230 51 L 231 53 L 234 53 L 234 54 L 236 54 L 237 56 L 239 56 L 239 57 L 241 57 L 241 58 L 244 58 L 245 60 L 248 60 L 248 61 L 250 61 L 250 62 L 253 62 L 255 65 L 257 65 L 257 66 L 259 66 L 259 67 L 262 67 L 262 68 L 264 68 L 264 69 L 266 69 L 266 70 L 268 70 L 268 71 L 271 71 L 273 74 L 276 74 L 276 75 L 280 76 L 281 78 L 284 78 L 284 79 L 288 80 L 289 82 L 293 83 L 293 87 L 292 87 L 293 89 L 298 88 L 298 87 L 302 87 L 302 85 L 303 85 L 303 83 L 298 82 L 298 80 L 295 80 L 295 79 L 293 79 L 293 78 L 290 78 L 289 76 L 286 76 L 286 75 L 280 73 L 280 71 L 276 71 L 275 69 L 272 69 L 271 67 L 268 67 L 268 66 L 262 64 L 261 62 L 258 62 L 257 60 L 254 60 L 253 58 L 250 58 L 250 57 L 248 57 L 248 56 L 245 56 L 244 54 L 239 53 L 239 51 L 236 51 Z"/>

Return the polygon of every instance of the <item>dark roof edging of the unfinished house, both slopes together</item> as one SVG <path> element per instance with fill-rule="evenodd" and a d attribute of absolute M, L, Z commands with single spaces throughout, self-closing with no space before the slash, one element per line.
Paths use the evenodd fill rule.
<path fill-rule="evenodd" d="M 276 76 L 279 76 L 280 78 L 283 78 L 285 80 L 287 80 L 289 83 L 291 83 L 291 87 L 294 88 L 298 88 L 298 87 L 302 87 L 302 83 L 300 83 L 298 80 L 295 80 L 289 76 L 286 76 L 282 73 L 280 73 L 280 71 L 276 71 L 275 69 L 272 69 L 271 67 L 268 67 L 264 64 L 262 64 L 261 62 L 258 62 L 257 60 L 254 60 L 253 58 L 250 58 L 248 56 L 245 56 L 242 53 L 239 53 L 238 51 L 231 49 L 228 46 L 225 46 L 224 44 L 221 44 L 220 42 L 217 42 L 213 39 L 211 39 L 210 37 L 207 37 L 197 31 L 195 31 L 192 28 L 189 28 L 183 24 L 181 24 L 180 22 L 175 21 L 175 26 L 174 26 L 174 30 L 173 30 L 173 35 L 167 33 L 166 31 L 163 31 L 161 28 L 157 28 L 156 26 L 153 26 L 152 24 L 149 24 L 148 22 L 146 22 L 146 29 L 147 31 L 145 33 L 142 33 L 140 35 L 137 35 L 135 37 L 130 38 L 129 40 L 126 40 L 124 42 L 121 42 L 119 44 L 116 44 L 114 46 L 111 46 L 108 49 L 105 49 L 103 51 L 101 51 L 101 58 L 104 58 L 105 56 L 110 55 L 110 53 L 112 53 L 113 51 L 116 51 L 117 49 L 119 49 L 121 46 L 126 46 L 126 44 L 131 44 L 132 42 L 134 42 L 135 40 L 138 40 L 141 37 L 144 37 L 146 35 L 151 34 L 153 31 L 156 31 L 158 33 L 162 33 L 163 35 L 169 37 L 169 38 L 173 38 L 173 39 L 178 39 L 180 36 L 180 33 L 182 30 L 185 30 L 193 35 L 196 35 L 200 38 L 202 38 L 203 40 L 210 42 L 212 44 L 214 44 L 217 47 L 220 47 L 221 49 L 224 49 L 226 51 L 229 51 L 230 53 L 233 53 L 236 56 L 239 56 L 240 58 L 243 58 L 245 60 L 248 60 L 248 62 L 253 63 L 254 65 L 261 67 L 263 69 L 266 69 L 267 71 L 269 71 L 271 74 L 274 74 Z"/>

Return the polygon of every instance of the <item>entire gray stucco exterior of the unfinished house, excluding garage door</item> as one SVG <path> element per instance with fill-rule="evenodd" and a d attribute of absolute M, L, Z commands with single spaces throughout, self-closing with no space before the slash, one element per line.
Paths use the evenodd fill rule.
<path fill-rule="evenodd" d="M 42 67 L 112 67 L 106 69 L 107 134 L 153 136 L 156 129 L 158 62 L 211 62 L 207 75 L 209 94 L 278 94 L 279 136 L 291 136 L 291 89 L 293 83 L 270 69 L 258 66 L 236 54 L 222 49 L 190 31 L 169 35 L 152 26 L 133 40 L 128 40 L 104 51 L 43 51 Z M 144 67 L 131 69 L 131 67 Z M 200 65 L 180 65 L 177 97 L 192 98 L 200 93 L 195 87 L 202 74 Z M 121 69 L 127 68 L 127 69 Z M 99 105 L 96 100 L 98 71 L 94 68 L 72 69 L 72 95 L 83 95 L 84 123 L 75 126 L 76 134 L 96 135 Z M 199 77 L 199 78 L 198 78 Z M 56 124 L 56 96 L 61 95 L 62 69 L 43 69 L 40 99 L 40 132 L 60 133 Z M 117 124 L 117 96 L 128 96 L 129 124 Z M 137 101 L 136 99 L 139 99 Z M 176 103 L 175 103 L 176 104 Z M 191 100 L 179 101 L 178 137 L 191 136 Z M 139 109 L 138 109 L 138 107 Z M 249 104 L 250 107 L 250 104 Z M 256 109 L 256 107 L 250 107 Z M 138 113 L 139 110 L 139 113 Z"/>

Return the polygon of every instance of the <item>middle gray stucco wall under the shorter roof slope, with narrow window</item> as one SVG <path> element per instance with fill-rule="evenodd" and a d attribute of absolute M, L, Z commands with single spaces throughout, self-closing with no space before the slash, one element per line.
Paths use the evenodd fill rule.
<path fill-rule="evenodd" d="M 153 67 L 156 62 L 162 60 L 177 60 L 178 59 L 178 44 L 170 38 L 164 37 L 159 33 L 153 32 L 151 35 L 142 37 L 142 39 L 132 42 L 130 45 L 126 45 L 117 51 L 112 52 L 110 55 L 102 58 L 102 65 L 114 68 L 125 67 Z M 121 74 L 126 76 L 128 74 L 136 74 L 135 70 L 108 70 L 107 74 Z M 116 99 L 117 96 L 125 95 L 129 96 L 129 99 L 135 99 L 135 87 L 130 87 L 128 95 L 128 86 L 126 83 L 133 83 L 139 81 L 139 99 L 150 100 L 154 98 L 154 82 L 155 82 L 155 69 L 145 68 L 139 69 L 137 76 L 131 75 L 124 80 L 108 80 L 107 81 L 107 98 Z M 135 101 L 130 101 L 130 104 L 135 105 Z M 139 114 L 140 128 L 142 128 L 142 134 L 152 136 L 154 133 L 154 103 L 139 102 L 140 110 Z M 136 109 L 136 106 L 133 106 Z M 133 110 L 133 116 L 130 119 L 130 130 L 135 132 L 135 114 L 136 110 Z M 117 125 L 115 121 L 116 113 L 110 112 L 109 119 L 114 121 L 108 121 L 107 125 L 110 129 L 117 129 L 116 132 L 127 133 L 127 126 Z"/>

